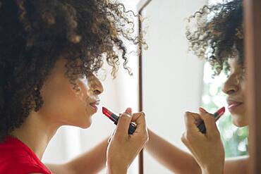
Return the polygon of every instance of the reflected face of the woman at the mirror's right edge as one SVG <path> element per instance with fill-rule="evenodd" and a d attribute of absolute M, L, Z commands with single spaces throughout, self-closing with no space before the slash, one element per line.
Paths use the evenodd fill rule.
<path fill-rule="evenodd" d="M 243 68 L 237 58 L 229 59 L 230 74 L 223 85 L 223 92 L 227 94 L 227 104 L 232 115 L 233 124 L 242 127 L 248 125 L 245 113 L 245 80 Z"/>

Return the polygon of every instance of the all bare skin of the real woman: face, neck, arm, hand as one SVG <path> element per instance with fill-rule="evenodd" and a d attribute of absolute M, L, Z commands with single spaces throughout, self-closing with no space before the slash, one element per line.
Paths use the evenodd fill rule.
<path fill-rule="evenodd" d="M 79 97 L 65 75 L 65 63 L 66 60 L 60 58 L 44 82 L 41 91 L 44 104 L 40 111 L 32 111 L 23 125 L 11 132 L 12 136 L 32 149 L 39 159 L 42 159 L 47 144 L 62 125 L 90 127 L 92 115 L 97 112 L 99 94 L 104 90 L 95 75 L 85 79 L 79 77 L 78 85 L 81 89 Z M 137 124 L 133 135 L 128 135 L 130 121 Z M 53 173 L 97 173 L 107 162 L 107 173 L 127 173 L 128 166 L 147 139 L 145 114 L 132 113 L 131 108 L 127 108 L 119 118 L 114 137 L 109 144 L 105 139 L 94 149 L 68 163 L 47 164 L 47 166 Z M 116 150 L 120 148 L 124 153 Z M 119 161 L 119 158 L 125 160 Z"/>

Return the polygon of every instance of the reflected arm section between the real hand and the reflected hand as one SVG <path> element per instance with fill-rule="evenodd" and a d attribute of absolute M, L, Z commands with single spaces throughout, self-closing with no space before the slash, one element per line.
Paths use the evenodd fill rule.
<path fill-rule="evenodd" d="M 178 149 L 151 130 L 149 137 L 145 149 L 166 168 L 174 173 L 201 173 L 200 166 L 192 155 Z"/>

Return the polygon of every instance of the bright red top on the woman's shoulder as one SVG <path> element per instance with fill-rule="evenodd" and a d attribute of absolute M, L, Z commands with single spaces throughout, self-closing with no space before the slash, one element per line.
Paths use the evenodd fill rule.
<path fill-rule="evenodd" d="M 0 173 L 51 174 L 28 146 L 11 136 L 7 136 L 6 141 L 0 143 Z"/>

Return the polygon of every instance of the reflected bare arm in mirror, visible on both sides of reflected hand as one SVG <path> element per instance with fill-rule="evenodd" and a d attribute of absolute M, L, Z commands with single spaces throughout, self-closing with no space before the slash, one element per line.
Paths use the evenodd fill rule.
<path fill-rule="evenodd" d="M 148 151 L 159 163 L 174 173 L 201 173 L 200 166 L 191 154 L 178 149 L 166 140 L 159 137 L 151 130 L 149 132 L 149 141 L 145 146 Z M 226 159 L 224 164 L 224 173 L 248 173 L 248 156 Z"/>

